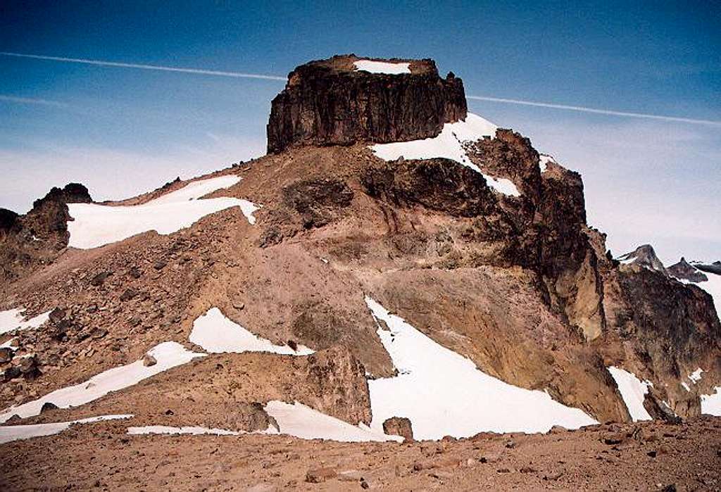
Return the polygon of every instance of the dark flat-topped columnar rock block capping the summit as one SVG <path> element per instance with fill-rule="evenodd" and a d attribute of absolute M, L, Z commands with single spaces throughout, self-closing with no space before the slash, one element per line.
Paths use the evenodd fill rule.
<path fill-rule="evenodd" d="M 268 152 L 292 145 L 394 142 L 438 135 L 443 123 L 466 117 L 463 82 L 438 76 L 431 60 L 410 63 L 410 73 L 358 70 L 355 55 L 298 66 L 273 99 Z"/>

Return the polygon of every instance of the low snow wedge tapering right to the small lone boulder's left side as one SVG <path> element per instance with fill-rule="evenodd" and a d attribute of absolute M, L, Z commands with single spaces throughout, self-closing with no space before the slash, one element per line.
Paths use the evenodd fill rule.
<path fill-rule="evenodd" d="M 363 424 L 354 426 L 298 402 L 291 405 L 283 401 L 269 401 L 265 405 L 265 411 L 278 423 L 280 434 L 288 434 L 301 439 L 329 439 L 341 442 L 403 442 L 403 438 L 400 436 L 389 436 L 383 431 L 373 430 Z"/>

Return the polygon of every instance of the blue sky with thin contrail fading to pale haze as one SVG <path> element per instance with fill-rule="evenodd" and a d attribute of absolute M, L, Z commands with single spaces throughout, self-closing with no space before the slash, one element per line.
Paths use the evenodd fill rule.
<path fill-rule="evenodd" d="M 4 0 L 0 52 L 191 70 L 0 55 L 0 207 L 262 156 L 270 100 L 306 61 L 433 58 L 469 96 L 693 120 L 469 99 L 582 174 L 614 254 L 721 259 L 721 2 L 600 3 Z"/>

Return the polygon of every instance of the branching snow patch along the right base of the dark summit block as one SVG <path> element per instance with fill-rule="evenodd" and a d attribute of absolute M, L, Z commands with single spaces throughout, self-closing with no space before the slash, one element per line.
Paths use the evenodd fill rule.
<path fill-rule="evenodd" d="M 371 146 L 371 151 L 385 161 L 395 161 L 399 157 L 407 159 L 444 157 L 483 174 L 481 169 L 473 164 L 466 155 L 464 143 L 474 142 L 485 137 L 494 138 L 496 130 L 497 126 L 492 122 L 468 113 L 465 121 L 443 125 L 441 134 L 436 137 L 411 140 L 410 142 L 376 143 Z M 483 177 L 488 186 L 495 191 L 511 197 L 521 196 L 518 188 L 510 179 L 495 178 L 488 174 L 483 174 Z"/>

